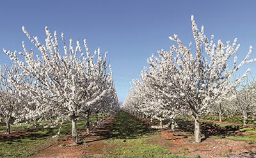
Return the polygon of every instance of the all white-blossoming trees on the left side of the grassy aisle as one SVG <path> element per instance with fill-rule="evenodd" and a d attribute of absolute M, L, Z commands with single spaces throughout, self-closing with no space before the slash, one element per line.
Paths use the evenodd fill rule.
<path fill-rule="evenodd" d="M 20 55 L 4 50 L 13 61 L 12 68 L 4 66 L 0 82 L 0 110 L 7 132 L 10 117 L 17 121 L 65 118 L 72 121 L 72 139 L 77 143 L 78 118 L 88 120 L 92 113 L 113 113 L 119 108 L 107 53 L 102 56 L 98 49 L 90 54 L 85 39 L 85 51 L 79 41 L 73 47 L 72 39 L 67 44 L 63 33 L 61 51 L 56 31 L 51 34 L 45 27 L 42 45 L 25 27 L 22 30 L 38 51 L 28 50 L 24 42 Z"/>

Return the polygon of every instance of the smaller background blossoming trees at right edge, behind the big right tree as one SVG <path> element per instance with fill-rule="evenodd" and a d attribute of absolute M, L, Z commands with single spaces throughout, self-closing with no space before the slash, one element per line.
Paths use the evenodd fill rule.
<path fill-rule="evenodd" d="M 236 89 L 230 91 L 225 97 L 220 97 L 211 106 L 211 114 L 218 114 L 219 121 L 222 115 L 243 117 L 243 124 L 248 123 L 248 118 L 255 119 L 256 114 L 256 82 L 255 80 L 243 80 Z"/>

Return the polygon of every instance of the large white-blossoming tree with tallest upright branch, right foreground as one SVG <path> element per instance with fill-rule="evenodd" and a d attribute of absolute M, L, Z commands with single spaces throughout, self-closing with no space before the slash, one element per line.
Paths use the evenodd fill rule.
<path fill-rule="evenodd" d="M 192 43 L 186 47 L 174 34 L 170 39 L 177 45 L 172 45 L 170 51 L 158 51 L 148 59 L 147 77 L 151 78 L 154 89 L 172 102 L 173 108 L 190 111 L 195 120 L 195 141 L 200 142 L 200 117 L 209 112 L 211 103 L 234 89 L 250 71 L 247 69 L 241 78 L 230 83 L 232 75 L 250 57 L 252 47 L 243 61 L 237 64 L 235 56 L 232 68 L 228 68 L 227 62 L 239 49 L 237 39 L 232 43 L 227 41 L 227 45 L 221 40 L 214 43 L 214 36 L 209 39 L 204 34 L 204 27 L 198 29 L 193 15 L 191 22 L 195 51 L 192 50 Z"/>

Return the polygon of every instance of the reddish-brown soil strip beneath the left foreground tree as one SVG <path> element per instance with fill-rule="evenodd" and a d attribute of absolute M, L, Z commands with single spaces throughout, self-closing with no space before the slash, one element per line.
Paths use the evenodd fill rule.
<path fill-rule="evenodd" d="M 109 148 L 112 148 L 111 145 L 107 145 L 101 140 L 111 137 L 111 126 L 114 119 L 115 117 L 109 117 L 104 120 L 102 125 L 94 128 L 90 134 L 85 131 L 78 133 L 81 141 L 79 145 L 72 143 L 71 136 L 66 136 L 31 157 L 83 157 L 85 155 L 101 157 L 102 154 L 108 153 Z"/>

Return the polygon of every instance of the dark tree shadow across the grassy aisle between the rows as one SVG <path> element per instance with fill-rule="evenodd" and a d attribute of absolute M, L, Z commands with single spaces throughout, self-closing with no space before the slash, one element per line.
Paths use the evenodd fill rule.
<path fill-rule="evenodd" d="M 88 143 L 92 141 L 106 140 L 109 138 L 136 139 L 142 136 L 148 136 L 152 133 L 154 133 L 154 130 L 148 128 L 148 125 L 145 124 L 145 122 L 133 117 L 129 113 L 120 111 L 115 118 L 113 118 L 113 121 L 105 123 L 104 126 L 97 127 L 93 133 L 88 135 L 95 136 L 97 139 L 85 142 Z"/>

